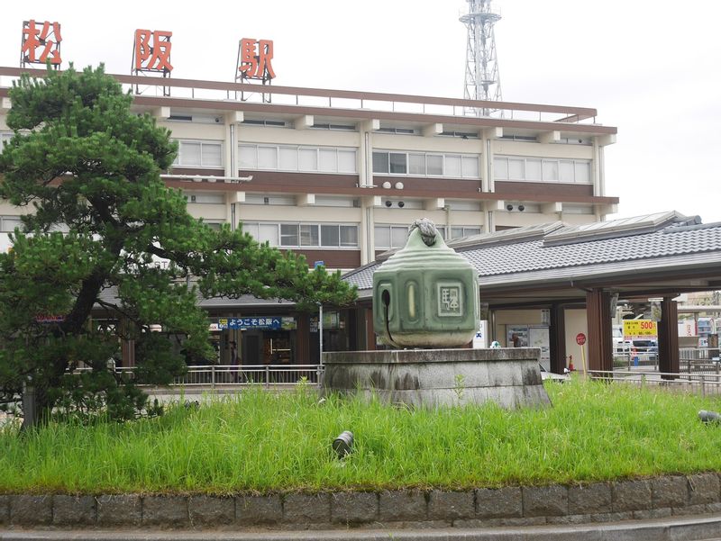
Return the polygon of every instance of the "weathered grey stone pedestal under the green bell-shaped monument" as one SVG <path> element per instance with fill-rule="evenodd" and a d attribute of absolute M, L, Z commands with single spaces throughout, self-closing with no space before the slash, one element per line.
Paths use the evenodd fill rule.
<path fill-rule="evenodd" d="M 494 401 L 502 408 L 551 404 L 537 347 L 402 349 L 324 353 L 322 393 L 375 392 L 382 401 L 458 406 Z"/>

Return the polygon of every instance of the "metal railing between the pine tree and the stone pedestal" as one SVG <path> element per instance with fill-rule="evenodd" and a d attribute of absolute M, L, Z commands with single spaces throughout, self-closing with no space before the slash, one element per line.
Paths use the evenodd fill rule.
<path fill-rule="evenodd" d="M 202 365 L 188 366 L 187 373 L 174 378 L 170 385 L 184 387 L 229 387 L 263 385 L 264 387 L 294 386 L 300 381 L 318 383 L 323 372 L 320 365 Z M 115 369 L 120 374 L 132 374 L 143 385 L 142 375 L 131 367 Z"/>

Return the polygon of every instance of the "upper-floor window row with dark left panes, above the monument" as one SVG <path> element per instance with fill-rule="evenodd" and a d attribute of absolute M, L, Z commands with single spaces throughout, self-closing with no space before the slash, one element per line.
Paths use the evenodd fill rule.
<path fill-rule="evenodd" d="M 479 157 L 424 152 L 373 152 L 373 173 L 479 178 Z"/>

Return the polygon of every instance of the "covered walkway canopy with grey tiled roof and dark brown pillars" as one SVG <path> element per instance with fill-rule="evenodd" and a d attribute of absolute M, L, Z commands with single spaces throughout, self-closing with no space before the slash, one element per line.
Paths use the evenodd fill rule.
<path fill-rule="evenodd" d="M 551 312 L 551 368 L 565 366 L 563 311 L 585 306 L 589 369 L 611 370 L 611 320 L 618 300 L 662 299 L 659 362 L 678 372 L 680 293 L 721 289 L 721 223 L 660 212 L 573 226 L 561 221 L 503 230 L 448 243 L 479 272 L 480 300 L 491 311 L 544 308 Z M 371 298 L 382 261 L 345 275 Z"/>

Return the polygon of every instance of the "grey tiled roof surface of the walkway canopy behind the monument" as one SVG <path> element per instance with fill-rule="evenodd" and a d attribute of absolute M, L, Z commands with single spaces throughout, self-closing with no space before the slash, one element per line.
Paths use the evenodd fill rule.
<path fill-rule="evenodd" d="M 653 215 L 658 216 L 658 215 Z M 493 242 L 493 234 L 484 235 L 479 245 L 473 246 L 472 239 L 465 239 L 459 253 L 468 258 L 479 272 L 480 283 L 484 278 L 503 275 L 548 276 L 548 271 L 574 268 L 603 274 L 618 268 L 628 268 L 637 263 L 638 267 L 653 260 L 671 260 L 695 254 L 715 255 L 721 263 L 721 223 L 698 224 L 698 219 L 680 216 L 675 212 L 665 214 L 667 220 L 658 221 L 654 230 L 646 225 L 637 234 L 634 230 L 614 230 L 614 222 L 605 222 L 596 236 L 584 234 L 573 238 L 577 226 L 551 228 L 543 236 L 529 234 L 530 239 L 518 235 L 506 242 Z M 688 225 L 688 224 L 691 225 Z M 535 228 L 537 233 L 539 228 Z M 498 235 L 505 235 L 505 231 Z M 564 234 L 570 233 L 570 234 Z M 549 238 L 561 237 L 562 244 L 549 242 Z M 452 244 L 456 244 L 455 242 Z M 704 258 L 707 260 L 707 257 Z M 356 284 L 359 290 L 372 288 L 372 275 L 378 264 L 360 267 L 344 278 Z M 568 272 L 560 273 L 568 275 Z M 584 272 L 588 275 L 588 272 Z"/>

